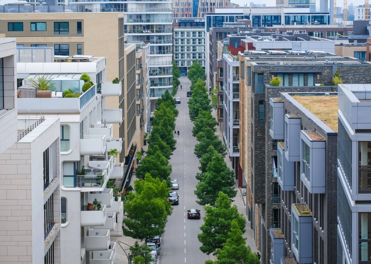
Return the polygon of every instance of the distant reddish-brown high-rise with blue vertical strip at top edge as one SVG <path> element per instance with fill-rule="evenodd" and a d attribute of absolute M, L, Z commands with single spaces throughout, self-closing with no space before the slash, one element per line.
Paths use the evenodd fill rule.
<path fill-rule="evenodd" d="M 204 17 L 217 8 L 230 7 L 230 0 L 176 0 L 173 1 L 173 17 Z"/>

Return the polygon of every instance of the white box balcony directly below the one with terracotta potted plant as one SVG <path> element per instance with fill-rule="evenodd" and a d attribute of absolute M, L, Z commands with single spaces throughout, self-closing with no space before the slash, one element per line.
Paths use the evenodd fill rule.
<path fill-rule="evenodd" d="M 88 236 L 85 238 L 85 250 L 108 250 L 109 238 L 109 230 L 107 229 L 89 229 Z"/>

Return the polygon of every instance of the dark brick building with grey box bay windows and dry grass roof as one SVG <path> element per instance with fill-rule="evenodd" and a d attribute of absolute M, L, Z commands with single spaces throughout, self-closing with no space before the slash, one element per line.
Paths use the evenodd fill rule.
<path fill-rule="evenodd" d="M 270 229 L 272 264 L 281 257 L 296 263 L 338 263 L 338 96 L 333 90 L 282 92 L 269 100 L 269 133 L 283 139 L 273 165 L 281 189 L 281 224 Z"/>

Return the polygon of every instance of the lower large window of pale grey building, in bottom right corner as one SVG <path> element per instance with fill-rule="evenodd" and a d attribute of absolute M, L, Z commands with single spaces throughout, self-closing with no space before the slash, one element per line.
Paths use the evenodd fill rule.
<path fill-rule="evenodd" d="M 369 227 L 370 226 L 370 227 Z M 371 213 L 358 214 L 359 262 L 371 260 Z"/>

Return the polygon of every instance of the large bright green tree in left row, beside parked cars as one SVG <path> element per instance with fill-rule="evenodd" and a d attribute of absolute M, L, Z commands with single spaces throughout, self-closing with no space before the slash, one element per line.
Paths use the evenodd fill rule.
<path fill-rule="evenodd" d="M 134 188 L 125 203 L 127 218 L 122 221 L 122 230 L 128 237 L 147 241 L 164 232 L 167 216 L 173 211 L 167 201 L 170 188 L 165 180 L 154 179 L 150 174 L 145 180 L 135 180 Z"/>

